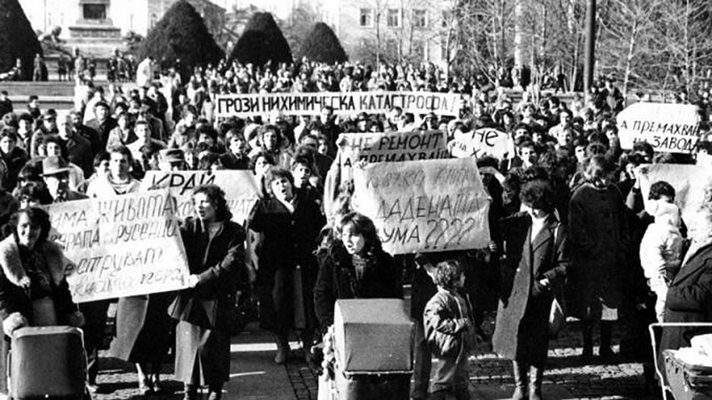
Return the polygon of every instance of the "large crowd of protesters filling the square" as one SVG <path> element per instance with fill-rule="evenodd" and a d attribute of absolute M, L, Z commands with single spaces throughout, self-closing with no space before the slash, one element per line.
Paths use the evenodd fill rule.
<path fill-rule="evenodd" d="M 162 390 L 161 365 L 173 334 L 185 398 L 195 399 L 201 386 L 211 400 L 221 397 L 229 379 L 228 315 L 236 291 L 246 286 L 259 300 L 260 326 L 274 335 L 274 361 L 289 362 L 288 338 L 297 332 L 318 369 L 310 349 L 333 324 L 337 299 L 402 298 L 404 279 L 411 281 L 414 399 L 428 393 L 468 398 L 466 361 L 476 339 L 491 340 L 513 360 L 514 399 L 540 399 L 555 298 L 581 321 L 586 361 L 594 357 L 594 326 L 597 356 L 614 357 L 612 332 L 621 315 L 712 321 L 712 264 L 706 262 L 712 231 L 686 228 L 691 221 L 681 221 L 668 182 L 651 188 L 656 207 L 648 214 L 636 175 L 650 163 L 709 165 L 712 145 L 701 141 L 695 154 L 656 153 L 646 142 L 622 149 L 615 115 L 624 99 L 612 80 L 570 102 L 554 95 L 533 101 L 528 92 L 514 101 L 474 78 L 447 78 L 432 65 L 221 64 L 196 68 L 182 83 L 176 70 L 157 79 L 152 59 L 141 64 L 140 86 L 124 92 L 89 83 L 70 112 L 43 109 L 36 96 L 18 107 L 0 94 L 5 351 L 20 326 L 81 325 L 88 387 L 100 389 L 98 350 L 110 301 L 72 303 L 54 263 L 61 249 L 47 239 L 49 217 L 38 207 L 135 192 L 148 170 L 251 170 L 263 193 L 238 224 L 221 188 L 196 188 L 195 216 L 181 229 L 190 289 L 118 300 L 110 354 L 136 364 L 144 394 Z M 398 107 L 353 116 L 330 107 L 303 117 L 214 116 L 219 93 L 324 90 L 456 92 L 462 103 L 457 117 Z M 394 257 L 383 250 L 373 221 L 354 211 L 352 182 L 341 182 L 338 193 L 325 191 L 333 186 L 329 171 L 340 133 L 437 129 L 455 140 L 483 127 L 506 132 L 513 143 L 513 153 L 501 160 L 477 160 L 492 199 L 485 249 Z M 710 211 L 701 210 L 700 218 L 712 221 Z M 493 312 L 490 338 L 481 325 Z M 621 352 L 650 362 L 649 350 L 640 351 L 645 335 L 626 329 Z M 629 337 L 635 339 L 626 342 Z M 663 337 L 671 348 L 685 340 L 679 330 Z"/>

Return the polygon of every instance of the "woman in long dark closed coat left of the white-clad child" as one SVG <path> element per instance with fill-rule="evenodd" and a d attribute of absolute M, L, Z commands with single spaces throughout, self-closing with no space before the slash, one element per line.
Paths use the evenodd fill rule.
<path fill-rule="evenodd" d="M 601 155 L 584 164 L 585 182 L 569 203 L 571 268 L 567 312 L 581 319 L 584 359 L 593 355 L 593 322 L 600 321 L 599 356 L 613 356 L 611 334 L 618 319 L 626 268 L 629 229 L 623 196 L 609 184 L 608 161 Z"/>

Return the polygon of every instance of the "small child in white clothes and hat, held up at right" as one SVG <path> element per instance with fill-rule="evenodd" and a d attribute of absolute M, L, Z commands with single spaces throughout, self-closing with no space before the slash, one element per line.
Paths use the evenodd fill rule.
<path fill-rule="evenodd" d="M 640 265 L 648 286 L 655 292 L 655 314 L 663 322 L 668 286 L 680 269 L 683 239 L 680 234 L 680 210 L 675 204 L 657 201 L 653 216 L 640 243 Z"/>

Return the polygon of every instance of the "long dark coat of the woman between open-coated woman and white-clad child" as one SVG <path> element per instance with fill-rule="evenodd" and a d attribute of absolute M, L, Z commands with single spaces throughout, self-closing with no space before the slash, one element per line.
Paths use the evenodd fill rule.
<path fill-rule="evenodd" d="M 613 185 L 597 188 L 584 183 L 569 203 L 571 267 L 568 272 L 568 312 L 587 318 L 598 299 L 617 308 L 629 244 L 623 196 Z"/>

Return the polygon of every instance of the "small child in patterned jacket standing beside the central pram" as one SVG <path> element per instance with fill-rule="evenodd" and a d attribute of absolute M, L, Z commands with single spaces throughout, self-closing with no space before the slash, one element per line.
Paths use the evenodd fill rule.
<path fill-rule="evenodd" d="M 423 313 L 425 337 L 435 356 L 430 398 L 454 394 L 457 400 L 468 400 L 467 356 L 474 347 L 475 324 L 469 300 L 458 293 L 465 285 L 464 269 L 457 261 L 443 261 L 436 267 L 433 282 L 438 292 Z"/>

